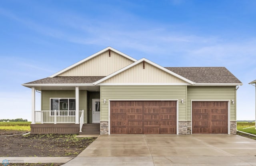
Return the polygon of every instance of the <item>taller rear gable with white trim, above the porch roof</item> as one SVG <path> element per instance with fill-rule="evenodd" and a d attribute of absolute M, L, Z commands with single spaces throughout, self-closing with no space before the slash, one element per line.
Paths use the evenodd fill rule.
<path fill-rule="evenodd" d="M 130 65 L 136 59 L 107 47 L 85 59 L 51 75 L 56 76 L 106 76 Z"/>

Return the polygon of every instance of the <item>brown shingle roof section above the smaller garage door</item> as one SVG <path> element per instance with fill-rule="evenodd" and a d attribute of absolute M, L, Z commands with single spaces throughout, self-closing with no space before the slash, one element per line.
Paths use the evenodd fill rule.
<path fill-rule="evenodd" d="M 226 67 L 165 67 L 195 83 L 241 83 Z"/>

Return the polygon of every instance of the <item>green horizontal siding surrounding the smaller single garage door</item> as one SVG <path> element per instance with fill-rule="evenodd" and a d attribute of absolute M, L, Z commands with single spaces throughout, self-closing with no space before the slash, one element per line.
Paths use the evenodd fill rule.
<path fill-rule="evenodd" d="M 187 120 L 191 121 L 191 100 L 230 101 L 230 121 L 236 121 L 236 87 L 190 87 L 187 97 Z M 235 104 L 231 101 L 234 100 Z"/>

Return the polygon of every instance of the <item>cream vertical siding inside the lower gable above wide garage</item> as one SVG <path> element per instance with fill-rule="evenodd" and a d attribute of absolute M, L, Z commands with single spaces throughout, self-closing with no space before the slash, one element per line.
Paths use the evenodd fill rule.
<path fill-rule="evenodd" d="M 148 77 L 150 75 L 150 77 Z M 102 83 L 186 83 L 149 63 L 143 62 L 103 81 Z"/>

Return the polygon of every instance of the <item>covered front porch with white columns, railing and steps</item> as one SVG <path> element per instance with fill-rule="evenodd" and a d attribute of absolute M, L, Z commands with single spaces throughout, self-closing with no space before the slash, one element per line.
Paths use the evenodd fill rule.
<path fill-rule="evenodd" d="M 99 86 L 38 86 L 31 89 L 31 134 L 100 134 Z M 41 93 L 41 110 L 35 109 L 36 92 Z"/>

